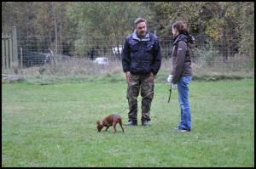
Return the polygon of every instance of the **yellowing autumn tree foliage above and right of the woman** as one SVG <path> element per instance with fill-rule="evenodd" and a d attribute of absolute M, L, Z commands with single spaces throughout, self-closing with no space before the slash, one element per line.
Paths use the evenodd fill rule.
<path fill-rule="evenodd" d="M 154 20 L 159 22 L 161 35 L 170 34 L 169 26 L 183 20 L 198 44 L 210 37 L 224 59 L 238 51 L 254 57 L 254 3 L 253 2 L 161 2 L 149 3 Z"/>

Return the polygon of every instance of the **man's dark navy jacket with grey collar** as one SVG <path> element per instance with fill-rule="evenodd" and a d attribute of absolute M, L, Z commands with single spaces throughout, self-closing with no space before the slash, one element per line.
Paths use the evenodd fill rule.
<path fill-rule="evenodd" d="M 147 32 L 145 37 L 137 37 L 137 31 L 126 37 L 122 54 L 124 72 L 131 74 L 158 73 L 161 65 L 160 43 L 158 38 Z"/>

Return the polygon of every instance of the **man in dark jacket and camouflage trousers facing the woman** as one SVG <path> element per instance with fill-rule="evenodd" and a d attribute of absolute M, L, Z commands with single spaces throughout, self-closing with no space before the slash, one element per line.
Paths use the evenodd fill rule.
<path fill-rule="evenodd" d="M 136 30 L 125 39 L 122 65 L 125 72 L 129 121 L 125 125 L 137 126 L 137 96 L 141 93 L 142 125 L 150 126 L 150 106 L 154 96 L 154 77 L 160 70 L 161 54 L 158 38 L 147 31 L 147 21 L 135 20 Z"/>

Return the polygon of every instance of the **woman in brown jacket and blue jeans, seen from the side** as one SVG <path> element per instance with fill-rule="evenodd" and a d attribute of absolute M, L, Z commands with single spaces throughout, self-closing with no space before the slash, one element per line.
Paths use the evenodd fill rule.
<path fill-rule="evenodd" d="M 192 50 L 195 46 L 194 37 L 189 35 L 186 25 L 177 21 L 172 25 L 174 37 L 172 49 L 172 73 L 168 82 L 172 82 L 172 88 L 177 89 L 178 102 L 181 110 L 181 121 L 174 127 L 178 132 L 191 131 L 191 110 L 189 106 L 189 82 L 192 79 Z"/>

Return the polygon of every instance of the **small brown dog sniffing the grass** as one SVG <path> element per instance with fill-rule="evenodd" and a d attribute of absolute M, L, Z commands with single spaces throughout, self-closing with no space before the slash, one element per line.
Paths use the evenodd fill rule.
<path fill-rule="evenodd" d="M 98 132 L 101 132 L 103 127 L 107 127 L 106 128 L 106 132 L 107 132 L 108 127 L 111 127 L 111 126 L 113 126 L 113 132 L 116 132 L 115 126 L 117 123 L 119 123 L 120 127 L 122 127 L 123 132 L 125 132 L 124 128 L 122 126 L 123 125 L 122 118 L 118 114 L 108 115 L 107 117 L 104 118 L 104 120 L 102 122 L 96 121 L 96 123 L 97 123 Z"/>

